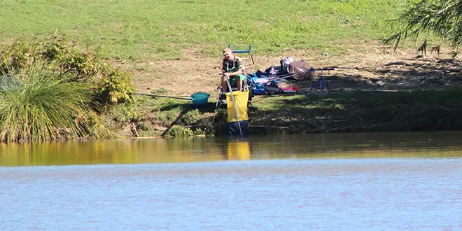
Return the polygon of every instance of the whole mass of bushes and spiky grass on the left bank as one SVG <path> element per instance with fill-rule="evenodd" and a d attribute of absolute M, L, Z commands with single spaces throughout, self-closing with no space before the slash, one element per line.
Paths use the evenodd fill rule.
<path fill-rule="evenodd" d="M 92 109 L 133 102 L 129 73 L 81 52 L 64 36 L 20 38 L 0 57 L 6 76 L 0 80 L 1 140 L 108 137 Z"/>

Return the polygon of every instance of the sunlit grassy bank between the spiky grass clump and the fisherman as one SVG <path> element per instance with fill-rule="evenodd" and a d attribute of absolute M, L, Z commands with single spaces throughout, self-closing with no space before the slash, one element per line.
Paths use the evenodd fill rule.
<path fill-rule="evenodd" d="M 188 101 L 135 97 L 134 104 L 122 104 L 103 115 L 124 137 L 190 137 L 225 134 L 226 111 L 215 113 L 215 102 L 195 109 Z M 129 128 L 130 127 L 130 128 Z"/>

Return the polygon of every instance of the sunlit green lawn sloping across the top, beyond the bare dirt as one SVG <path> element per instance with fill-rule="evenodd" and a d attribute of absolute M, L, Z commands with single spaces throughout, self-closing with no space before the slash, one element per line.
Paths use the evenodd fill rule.
<path fill-rule="evenodd" d="M 414 0 L 4 0 L 0 41 L 66 34 L 106 58 L 168 59 L 228 44 L 260 54 L 343 52 L 391 34 L 386 20 Z M 6 16 L 6 17 L 4 17 Z M 199 48 L 197 50 L 197 48 Z"/>

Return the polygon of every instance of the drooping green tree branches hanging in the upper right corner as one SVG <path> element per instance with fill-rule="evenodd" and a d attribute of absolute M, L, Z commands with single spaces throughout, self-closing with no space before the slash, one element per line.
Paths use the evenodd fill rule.
<path fill-rule="evenodd" d="M 396 49 L 407 37 L 419 38 L 423 34 L 423 42 L 418 51 L 426 53 L 428 37 L 434 34 L 451 47 L 458 48 L 462 43 L 461 14 L 462 1 L 458 0 L 423 0 L 412 3 L 399 18 L 393 20 L 394 26 L 402 28 L 382 43 L 394 44 Z M 440 45 L 431 50 L 440 52 Z"/>

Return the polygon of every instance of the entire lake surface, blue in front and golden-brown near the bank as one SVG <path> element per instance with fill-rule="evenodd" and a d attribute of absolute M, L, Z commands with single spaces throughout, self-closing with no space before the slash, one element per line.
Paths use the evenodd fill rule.
<path fill-rule="evenodd" d="M 0 230 L 462 230 L 462 132 L 0 144 Z"/>

